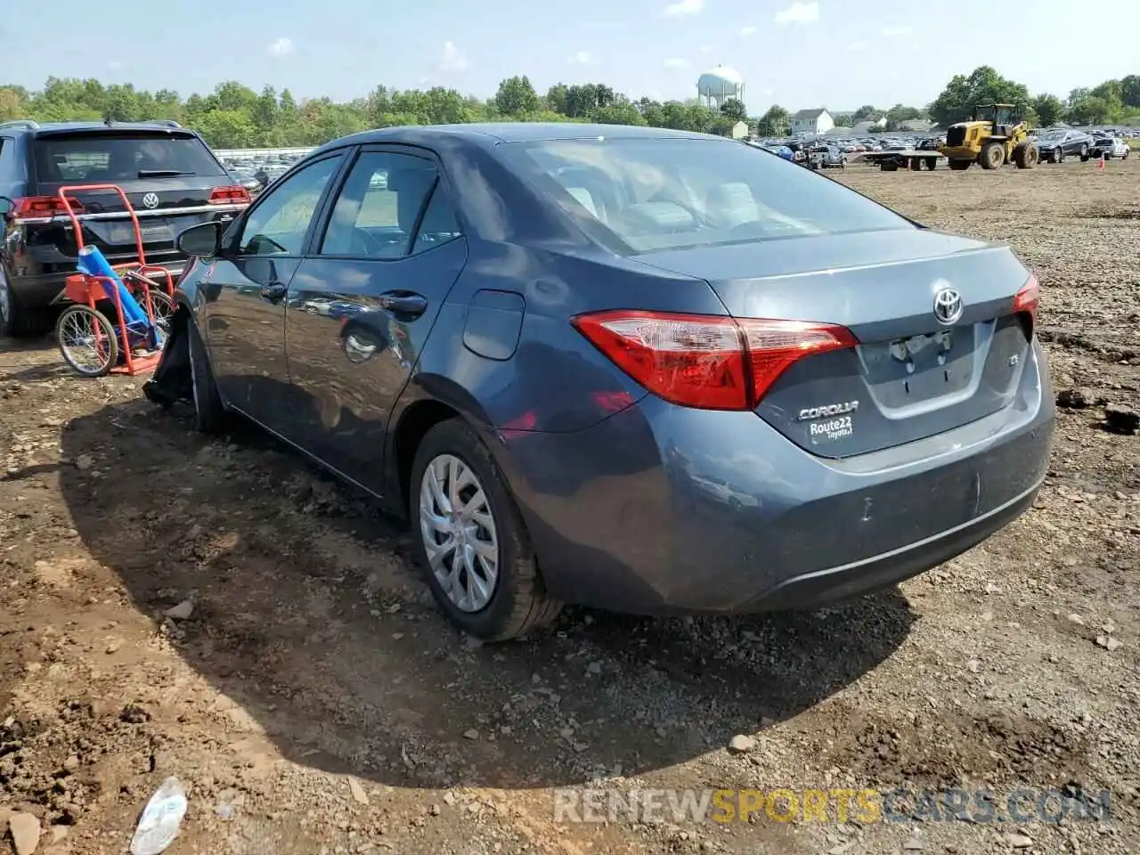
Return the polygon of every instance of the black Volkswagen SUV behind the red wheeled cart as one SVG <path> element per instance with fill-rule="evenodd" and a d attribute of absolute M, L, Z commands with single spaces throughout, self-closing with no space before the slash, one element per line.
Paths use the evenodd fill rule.
<path fill-rule="evenodd" d="M 135 209 L 147 263 L 181 272 L 174 238 L 228 221 L 250 203 L 210 147 L 177 122 L 0 123 L 0 336 L 50 329 L 78 247 L 62 187 L 116 185 Z M 114 190 L 68 192 L 83 243 L 112 264 L 138 259 L 130 214 Z"/>

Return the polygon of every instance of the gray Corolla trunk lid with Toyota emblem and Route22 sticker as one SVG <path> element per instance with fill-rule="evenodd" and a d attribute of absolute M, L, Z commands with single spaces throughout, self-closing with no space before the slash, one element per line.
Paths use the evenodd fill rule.
<path fill-rule="evenodd" d="M 990 415 L 1012 401 L 1027 361 L 1032 327 L 1013 304 L 1029 274 L 1003 246 L 907 228 L 636 258 L 706 279 L 738 319 L 854 334 L 856 347 L 793 363 L 756 408 L 821 456 L 865 454 Z"/>

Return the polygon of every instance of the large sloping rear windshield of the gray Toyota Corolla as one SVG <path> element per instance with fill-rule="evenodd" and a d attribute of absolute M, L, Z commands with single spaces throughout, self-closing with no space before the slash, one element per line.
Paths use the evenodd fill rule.
<path fill-rule="evenodd" d="M 771 152 L 726 140 L 549 140 L 500 147 L 604 243 L 632 252 L 913 228 Z"/>

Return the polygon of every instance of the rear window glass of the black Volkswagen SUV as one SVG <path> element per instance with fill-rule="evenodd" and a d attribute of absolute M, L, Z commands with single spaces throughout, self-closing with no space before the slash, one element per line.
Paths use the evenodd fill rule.
<path fill-rule="evenodd" d="M 137 132 L 38 138 L 35 173 L 42 184 L 225 174 L 197 137 Z"/>

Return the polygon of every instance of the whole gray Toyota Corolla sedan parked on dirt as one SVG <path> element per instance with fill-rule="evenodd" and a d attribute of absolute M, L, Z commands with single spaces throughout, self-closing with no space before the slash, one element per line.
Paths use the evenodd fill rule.
<path fill-rule="evenodd" d="M 152 400 L 241 414 L 405 514 L 440 606 L 815 605 L 1031 506 L 1039 286 L 754 146 L 389 128 L 182 233 Z"/>

